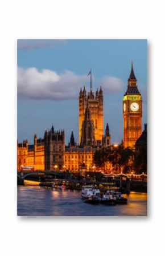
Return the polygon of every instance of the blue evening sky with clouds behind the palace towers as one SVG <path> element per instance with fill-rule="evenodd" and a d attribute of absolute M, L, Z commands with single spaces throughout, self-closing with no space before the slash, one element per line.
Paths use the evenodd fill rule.
<path fill-rule="evenodd" d="M 113 143 L 123 137 L 122 97 L 127 88 L 131 60 L 143 98 L 143 124 L 147 123 L 147 40 L 18 40 L 18 140 L 33 143 L 34 133 L 71 130 L 78 141 L 79 91 L 104 91 L 104 129 L 108 122 Z"/>

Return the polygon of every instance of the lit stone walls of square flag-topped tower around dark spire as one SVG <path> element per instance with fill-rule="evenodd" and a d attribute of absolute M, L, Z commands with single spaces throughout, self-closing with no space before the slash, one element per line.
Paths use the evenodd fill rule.
<path fill-rule="evenodd" d="M 103 103 L 103 92 L 100 87 L 100 91 L 96 91 L 96 94 L 90 89 L 88 95 L 86 95 L 86 90 L 80 90 L 79 95 L 79 144 L 81 143 L 82 137 L 82 126 L 85 119 L 85 110 L 87 105 L 87 100 L 90 109 L 90 115 L 94 127 L 94 140 L 97 145 L 97 141 L 102 141 L 102 136 L 104 135 L 104 103 Z"/>

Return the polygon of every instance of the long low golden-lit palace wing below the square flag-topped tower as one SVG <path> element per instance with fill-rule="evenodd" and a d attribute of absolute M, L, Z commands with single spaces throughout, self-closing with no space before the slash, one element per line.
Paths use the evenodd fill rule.
<path fill-rule="evenodd" d="M 102 137 L 102 145 L 110 147 L 110 133 L 106 125 L 105 136 Z M 70 142 L 65 145 L 65 133 L 54 131 L 52 128 L 44 132 L 44 139 L 34 136 L 34 145 L 28 145 L 28 141 L 17 145 L 17 168 L 21 166 L 34 166 L 35 170 L 95 170 L 93 164 L 94 152 L 103 146 L 84 145 L 75 143 L 73 131 Z M 107 165 L 107 168 L 109 164 Z"/>

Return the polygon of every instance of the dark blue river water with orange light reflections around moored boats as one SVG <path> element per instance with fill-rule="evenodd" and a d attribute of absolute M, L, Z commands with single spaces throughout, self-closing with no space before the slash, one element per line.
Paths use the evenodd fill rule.
<path fill-rule="evenodd" d="M 18 186 L 18 216 L 146 216 L 147 193 L 131 192 L 127 205 L 90 205 L 81 191 Z"/>

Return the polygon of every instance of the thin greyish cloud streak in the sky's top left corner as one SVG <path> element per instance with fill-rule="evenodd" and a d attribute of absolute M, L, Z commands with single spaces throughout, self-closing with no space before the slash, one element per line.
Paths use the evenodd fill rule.
<path fill-rule="evenodd" d="M 18 39 L 17 49 L 32 51 L 38 48 L 54 46 L 55 44 L 65 43 L 64 39 Z"/>

